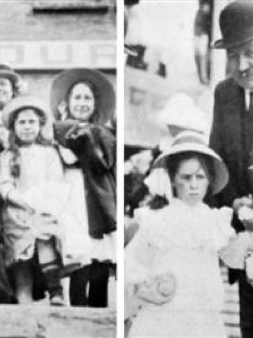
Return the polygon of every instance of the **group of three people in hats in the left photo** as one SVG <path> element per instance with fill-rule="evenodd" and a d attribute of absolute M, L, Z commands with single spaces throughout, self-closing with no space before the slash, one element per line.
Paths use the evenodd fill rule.
<path fill-rule="evenodd" d="M 22 83 L 0 65 L 0 303 L 47 292 L 50 305 L 106 307 L 116 269 L 114 88 L 96 70 L 62 71 L 49 107 Z"/>

